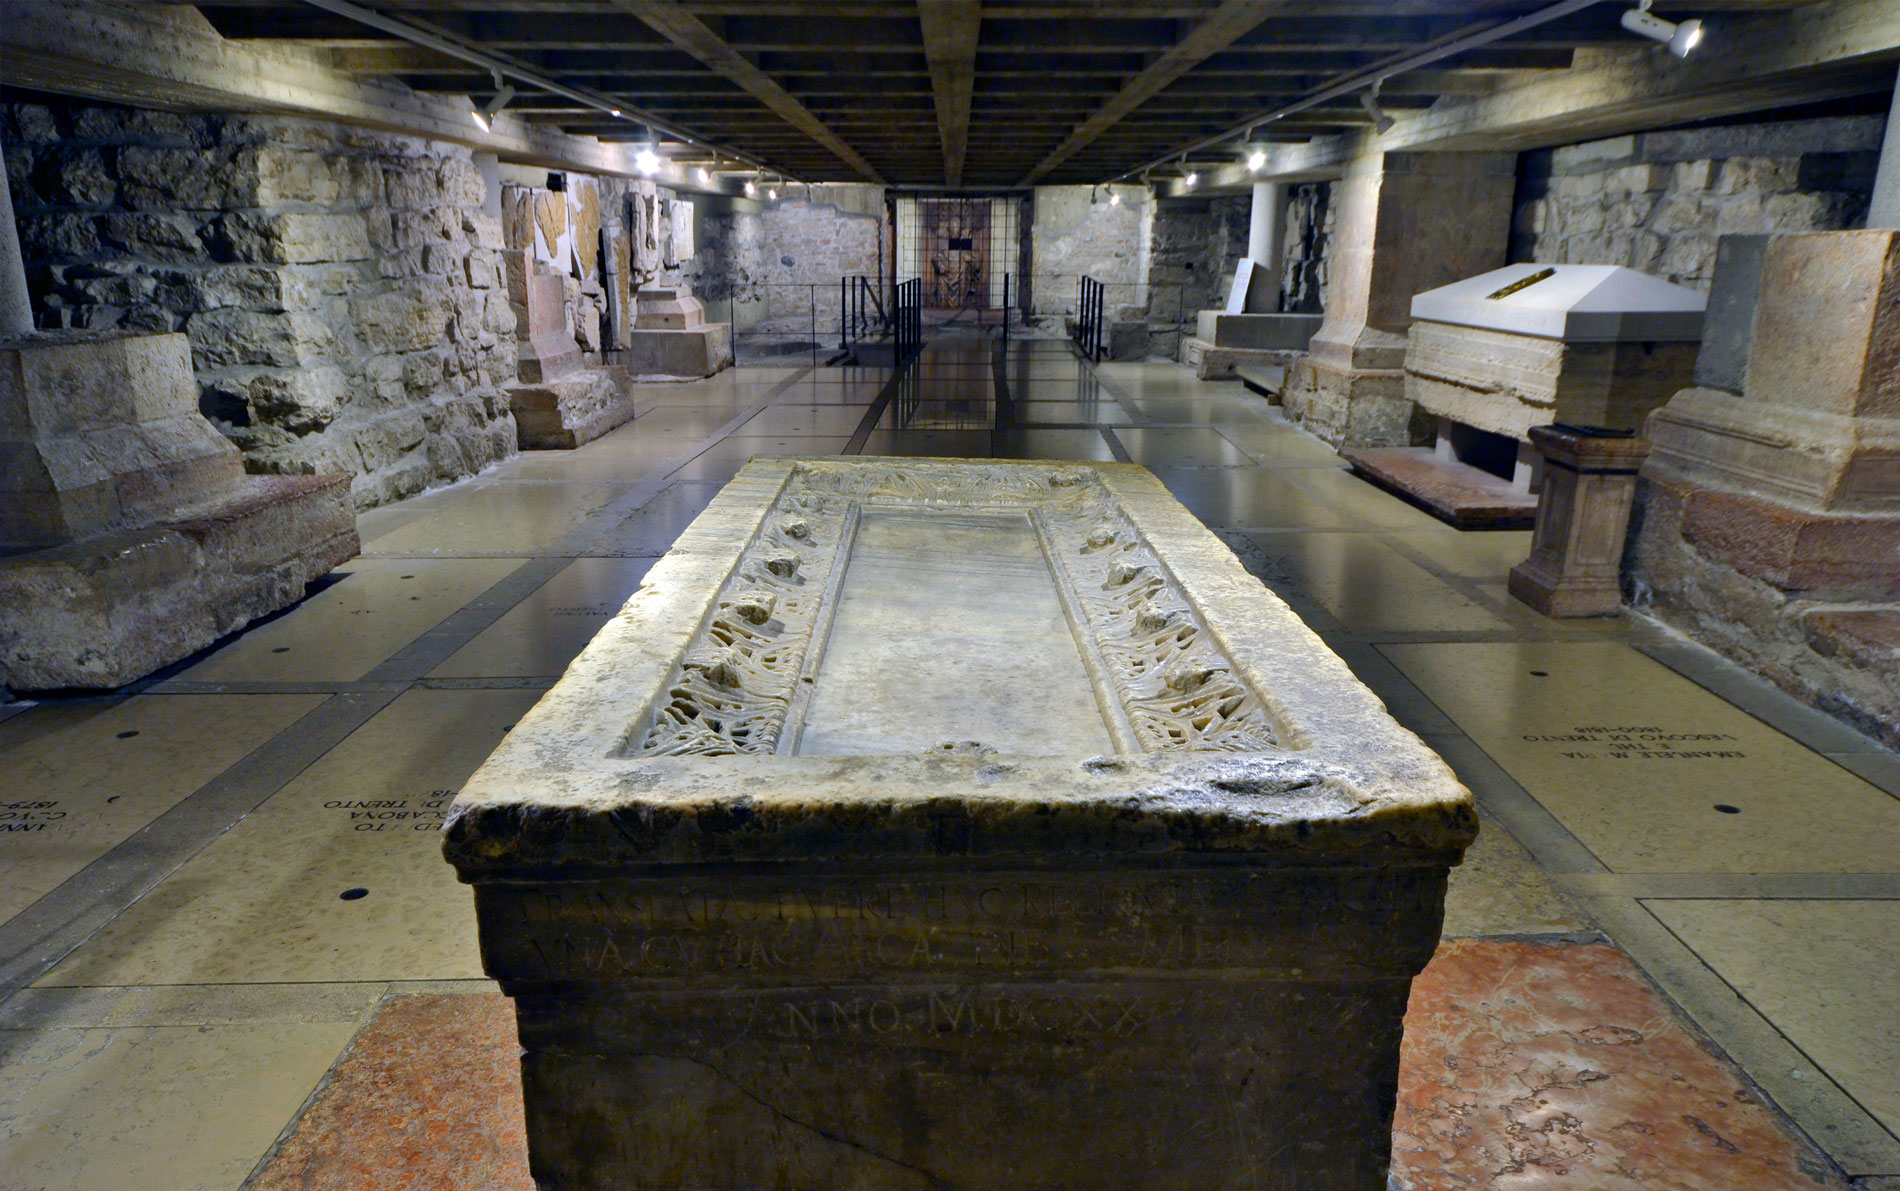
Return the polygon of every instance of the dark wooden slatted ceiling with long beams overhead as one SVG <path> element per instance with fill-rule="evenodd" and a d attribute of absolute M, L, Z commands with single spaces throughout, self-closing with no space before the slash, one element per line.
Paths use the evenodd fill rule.
<path fill-rule="evenodd" d="M 1115 177 L 1341 76 L 1547 4 L 401 0 L 367 8 L 616 97 L 792 177 L 999 188 Z M 1718 21 L 1729 11 L 1796 4 L 1661 0 L 1659 13 Z M 477 99 L 492 91 L 477 65 L 302 0 L 200 8 L 226 38 L 323 47 L 340 68 L 393 76 L 418 91 Z M 1423 108 L 1442 95 L 1493 89 L 1520 72 L 1566 70 L 1579 47 L 1630 46 L 1617 25 L 1624 8 L 1606 0 L 1393 76 L 1383 84 L 1383 104 Z M 528 85 L 519 85 L 509 110 L 602 141 L 650 137 L 640 123 Z M 1262 141 L 1326 137 L 1368 120 L 1347 95 L 1275 122 Z"/>

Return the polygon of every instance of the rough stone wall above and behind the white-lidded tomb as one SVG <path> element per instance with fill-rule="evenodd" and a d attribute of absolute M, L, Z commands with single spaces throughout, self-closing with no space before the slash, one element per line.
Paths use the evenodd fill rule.
<path fill-rule="evenodd" d="M 1720 236 L 1860 226 L 1883 127 L 1837 116 L 1522 154 L 1510 258 L 1624 264 L 1706 293 Z"/>

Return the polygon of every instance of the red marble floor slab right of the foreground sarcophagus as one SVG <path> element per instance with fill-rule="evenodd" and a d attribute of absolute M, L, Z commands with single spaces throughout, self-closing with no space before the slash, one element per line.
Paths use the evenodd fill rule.
<path fill-rule="evenodd" d="M 1448 940 L 1412 984 L 1410 1191 L 1845 1187 L 1607 944 Z"/>

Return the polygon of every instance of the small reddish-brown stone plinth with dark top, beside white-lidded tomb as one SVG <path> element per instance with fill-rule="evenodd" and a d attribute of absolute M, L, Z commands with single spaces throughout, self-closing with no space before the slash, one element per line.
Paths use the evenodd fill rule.
<path fill-rule="evenodd" d="M 1531 446 L 1545 458 L 1543 494 L 1531 555 L 1510 568 L 1510 595 L 1545 615 L 1609 615 L 1623 606 L 1623 543 L 1649 443 L 1590 429 L 1531 427 Z"/>

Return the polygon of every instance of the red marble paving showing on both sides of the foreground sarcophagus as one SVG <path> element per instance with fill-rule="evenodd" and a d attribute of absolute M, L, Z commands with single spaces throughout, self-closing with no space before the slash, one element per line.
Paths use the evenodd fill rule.
<path fill-rule="evenodd" d="M 532 1191 L 517 1058 L 504 997 L 393 997 L 251 1191 Z M 1393 1170 L 1408 1191 L 1845 1191 L 1607 944 L 1438 948 Z"/>

